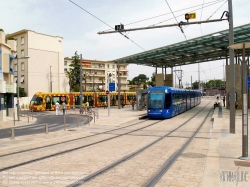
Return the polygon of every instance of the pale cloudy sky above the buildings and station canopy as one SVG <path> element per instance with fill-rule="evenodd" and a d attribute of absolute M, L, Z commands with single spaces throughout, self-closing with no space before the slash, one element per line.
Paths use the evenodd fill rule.
<path fill-rule="evenodd" d="M 249 0 L 233 1 L 234 27 L 248 24 Z M 225 0 L 0 0 L 0 28 L 6 34 L 28 29 L 63 37 L 65 57 L 75 51 L 84 59 L 112 61 L 114 59 L 163 47 L 203 35 L 228 29 L 228 22 L 206 23 L 178 27 L 99 35 L 124 24 L 125 29 L 151 25 L 175 24 L 185 21 L 184 14 L 196 12 L 196 20 L 219 19 L 228 11 Z M 77 6 L 78 5 L 78 6 Z M 80 8 L 81 7 L 81 8 Z M 225 60 L 200 64 L 200 81 L 224 79 Z M 139 74 L 151 78 L 154 68 L 130 64 L 129 77 Z M 184 87 L 198 80 L 198 65 L 176 67 L 182 70 Z M 167 73 L 170 73 L 167 68 Z M 161 72 L 161 69 L 158 69 Z M 177 81 L 178 82 L 178 81 Z"/>

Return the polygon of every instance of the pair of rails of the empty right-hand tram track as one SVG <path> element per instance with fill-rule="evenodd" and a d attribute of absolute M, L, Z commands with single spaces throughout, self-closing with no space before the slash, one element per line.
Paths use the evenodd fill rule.
<path fill-rule="evenodd" d="M 211 102 L 211 101 L 210 101 Z M 113 162 L 112 164 L 88 175 L 87 177 L 84 177 L 78 181 L 75 181 L 74 183 L 68 185 L 68 187 L 76 187 L 76 186 L 80 186 L 86 182 L 89 182 L 90 180 L 94 179 L 95 177 L 113 169 L 114 167 L 118 166 L 119 164 L 125 162 L 125 161 L 128 161 L 130 159 L 132 159 L 133 157 L 139 155 L 140 153 L 142 153 L 143 151 L 147 150 L 148 148 L 150 148 L 151 146 L 155 145 L 156 143 L 160 142 L 161 140 L 165 139 L 166 137 L 169 137 L 169 135 L 171 135 L 173 132 L 177 131 L 178 129 L 180 129 L 181 127 L 183 127 L 185 124 L 187 124 L 190 120 L 192 120 L 194 117 L 196 117 L 200 112 L 202 112 L 209 104 L 210 102 L 202 109 L 202 110 L 199 110 L 195 115 L 193 115 L 191 118 L 189 118 L 188 120 L 186 120 L 184 123 L 182 123 L 181 125 L 179 125 L 178 127 L 174 128 L 173 130 L 171 130 L 170 132 L 168 132 L 167 134 L 163 135 L 162 137 L 156 139 L 155 141 L 149 143 L 148 145 L 142 147 L 141 149 L 131 153 L 131 154 L 128 154 L 127 156 Z M 184 146 L 180 149 L 180 151 L 176 151 L 174 154 L 172 154 L 169 158 L 168 161 L 166 161 L 166 163 L 169 163 L 169 161 L 171 161 L 171 163 L 173 164 L 174 161 L 178 158 L 178 156 L 185 150 L 185 148 L 190 144 L 190 142 L 193 140 L 193 138 L 195 137 L 195 135 L 199 132 L 200 128 L 202 127 L 203 123 L 206 121 L 207 117 L 209 116 L 210 112 L 211 112 L 212 108 L 210 109 L 209 113 L 206 115 L 206 117 L 204 118 L 202 124 L 199 126 L 199 128 L 195 131 L 195 133 L 192 135 L 191 138 L 189 138 L 189 140 L 184 144 Z M 166 167 L 164 168 L 169 168 L 171 167 L 171 165 L 169 164 L 165 164 Z M 165 169 L 164 171 L 167 171 L 167 169 Z M 158 180 L 159 176 L 162 175 L 163 172 L 159 173 L 157 176 L 155 176 L 153 179 L 152 179 L 152 182 L 149 181 L 147 182 L 147 184 L 150 186 L 152 183 L 154 183 L 155 181 Z M 157 178 L 158 177 L 158 178 Z"/>

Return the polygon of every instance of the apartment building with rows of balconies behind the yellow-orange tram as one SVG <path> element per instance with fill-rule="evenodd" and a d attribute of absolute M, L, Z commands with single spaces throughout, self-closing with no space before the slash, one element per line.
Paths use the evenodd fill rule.
<path fill-rule="evenodd" d="M 64 58 L 64 72 L 69 71 L 70 64 L 73 59 Z M 128 64 L 120 64 L 120 83 L 121 91 L 128 91 Z M 108 75 L 111 74 L 110 82 L 114 82 L 116 90 L 118 90 L 118 66 L 114 62 L 99 61 L 99 60 L 82 60 L 83 72 L 83 91 L 104 91 L 107 90 Z"/>

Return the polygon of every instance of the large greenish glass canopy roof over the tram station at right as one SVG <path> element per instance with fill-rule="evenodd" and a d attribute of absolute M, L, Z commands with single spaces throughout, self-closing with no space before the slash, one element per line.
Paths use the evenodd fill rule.
<path fill-rule="evenodd" d="M 234 43 L 250 41 L 250 23 L 234 28 Z M 154 67 L 174 67 L 215 61 L 229 57 L 229 30 L 222 30 L 187 41 L 163 46 L 113 60 Z M 241 54 L 242 50 L 236 50 Z M 246 49 L 249 55 L 250 49 Z"/>

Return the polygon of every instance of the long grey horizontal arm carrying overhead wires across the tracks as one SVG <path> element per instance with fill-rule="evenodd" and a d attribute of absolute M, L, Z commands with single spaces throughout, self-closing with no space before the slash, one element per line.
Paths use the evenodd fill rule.
<path fill-rule="evenodd" d="M 209 22 L 217 22 L 217 21 L 225 21 L 228 19 L 214 19 L 214 20 L 205 20 L 205 21 L 193 21 L 193 22 L 180 22 L 178 24 L 170 24 L 170 25 L 158 25 L 152 27 L 140 27 L 134 29 L 119 29 L 116 31 L 100 31 L 97 34 L 111 34 L 111 33 L 121 33 L 127 31 L 137 31 L 137 30 L 147 30 L 147 29 L 156 29 L 156 28 L 164 28 L 164 27 L 175 27 L 175 26 L 183 26 L 183 25 L 193 25 L 193 24 L 201 24 L 201 23 L 209 23 Z"/>

